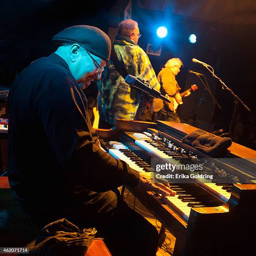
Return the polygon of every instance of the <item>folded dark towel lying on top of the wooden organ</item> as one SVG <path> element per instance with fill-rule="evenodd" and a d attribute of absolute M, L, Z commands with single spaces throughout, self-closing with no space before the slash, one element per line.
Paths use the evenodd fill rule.
<path fill-rule="evenodd" d="M 230 138 L 220 138 L 200 129 L 187 134 L 182 138 L 182 142 L 211 157 L 222 157 L 225 150 L 232 144 Z"/>

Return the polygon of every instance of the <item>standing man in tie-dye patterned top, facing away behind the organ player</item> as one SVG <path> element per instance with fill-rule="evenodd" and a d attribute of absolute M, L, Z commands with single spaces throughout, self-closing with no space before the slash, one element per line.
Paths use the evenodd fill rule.
<path fill-rule="evenodd" d="M 141 92 L 125 82 L 127 74 L 148 80 L 154 89 L 160 89 L 147 54 L 138 46 L 140 37 L 136 21 L 128 19 L 119 23 L 112 49 L 115 51 L 117 61 L 114 63 L 112 55 L 105 72 L 102 73 L 102 79 L 97 82 L 100 91 L 99 128 L 108 129 L 115 126 L 117 118 L 134 120 L 141 101 Z M 119 68 L 116 67 L 117 65 Z M 121 71 L 124 69 L 123 74 L 120 74 L 118 69 Z"/>

